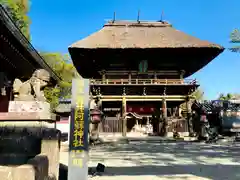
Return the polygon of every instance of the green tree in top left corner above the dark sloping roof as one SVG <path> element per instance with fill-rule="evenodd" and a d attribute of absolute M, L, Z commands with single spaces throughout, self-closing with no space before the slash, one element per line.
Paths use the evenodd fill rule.
<path fill-rule="evenodd" d="M 10 17 L 27 39 L 30 39 L 29 0 L 0 0 Z"/>

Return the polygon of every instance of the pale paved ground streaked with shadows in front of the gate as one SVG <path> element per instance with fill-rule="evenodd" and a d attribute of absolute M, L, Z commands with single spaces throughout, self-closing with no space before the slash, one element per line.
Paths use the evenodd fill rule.
<path fill-rule="evenodd" d="M 136 140 L 93 147 L 89 167 L 106 166 L 93 180 L 239 180 L 240 143 L 218 144 Z M 61 152 L 67 164 L 67 152 Z"/>

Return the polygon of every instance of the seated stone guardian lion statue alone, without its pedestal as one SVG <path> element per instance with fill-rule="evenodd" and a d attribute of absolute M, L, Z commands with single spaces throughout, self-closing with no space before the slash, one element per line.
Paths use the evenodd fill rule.
<path fill-rule="evenodd" d="M 15 79 L 13 83 L 14 101 L 46 101 L 43 89 L 49 81 L 50 74 L 45 69 L 37 69 L 25 82 Z"/>

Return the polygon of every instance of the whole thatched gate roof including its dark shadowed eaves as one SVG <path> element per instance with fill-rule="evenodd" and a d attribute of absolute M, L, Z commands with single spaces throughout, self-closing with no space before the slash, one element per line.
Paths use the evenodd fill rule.
<path fill-rule="evenodd" d="M 195 73 L 224 48 L 178 31 L 167 22 L 108 22 L 69 47 L 74 66 L 83 78 L 101 78 L 101 70 L 138 71 L 141 60 L 148 70 Z"/>

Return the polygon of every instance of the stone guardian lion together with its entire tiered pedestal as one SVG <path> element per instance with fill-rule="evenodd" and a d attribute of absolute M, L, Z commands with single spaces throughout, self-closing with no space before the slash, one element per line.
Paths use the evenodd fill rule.
<path fill-rule="evenodd" d="M 49 81 L 50 74 L 44 69 L 37 69 L 25 82 L 14 80 L 14 100 L 9 102 L 8 112 L 0 113 L 3 180 L 58 179 L 61 132 L 54 128 L 56 118 L 44 96 Z"/>

